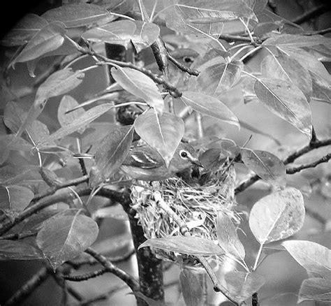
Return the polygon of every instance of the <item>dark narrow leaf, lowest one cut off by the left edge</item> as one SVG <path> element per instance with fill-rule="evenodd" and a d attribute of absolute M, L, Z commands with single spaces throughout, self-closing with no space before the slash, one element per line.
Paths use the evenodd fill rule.
<path fill-rule="evenodd" d="M 22 241 L 0 240 L 0 259 L 28 261 L 43 258 L 43 254 L 36 247 Z"/>

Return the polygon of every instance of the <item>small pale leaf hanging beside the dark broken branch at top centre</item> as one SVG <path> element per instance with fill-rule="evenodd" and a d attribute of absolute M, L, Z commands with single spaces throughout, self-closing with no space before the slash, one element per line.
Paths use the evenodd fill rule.
<path fill-rule="evenodd" d="M 135 46 L 135 50 L 139 53 L 156 41 L 160 34 L 160 28 L 157 24 L 140 20 L 135 20 L 135 25 L 136 29 L 131 41 Z"/>

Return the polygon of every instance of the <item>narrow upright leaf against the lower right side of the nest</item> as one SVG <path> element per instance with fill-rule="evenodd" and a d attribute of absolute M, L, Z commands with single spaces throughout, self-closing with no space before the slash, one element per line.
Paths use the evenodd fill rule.
<path fill-rule="evenodd" d="M 238 237 L 237 229 L 228 215 L 222 212 L 219 212 L 217 216 L 217 239 L 226 253 L 244 261 L 245 249 Z"/>

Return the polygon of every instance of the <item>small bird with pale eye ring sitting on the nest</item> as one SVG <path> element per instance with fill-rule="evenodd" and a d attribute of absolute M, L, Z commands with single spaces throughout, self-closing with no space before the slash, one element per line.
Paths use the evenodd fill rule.
<path fill-rule="evenodd" d="M 203 167 L 196 150 L 188 143 L 179 143 L 168 167 L 154 148 L 143 143 L 131 147 L 120 169 L 135 180 L 152 182 L 166 180 L 193 165 Z"/>

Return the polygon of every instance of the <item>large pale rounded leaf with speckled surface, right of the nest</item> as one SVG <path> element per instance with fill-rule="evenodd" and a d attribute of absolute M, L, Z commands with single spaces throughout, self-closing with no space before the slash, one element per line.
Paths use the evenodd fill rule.
<path fill-rule="evenodd" d="M 300 230 L 304 212 L 300 191 L 286 188 L 261 198 L 253 205 L 249 228 L 261 245 L 285 239 Z"/>

